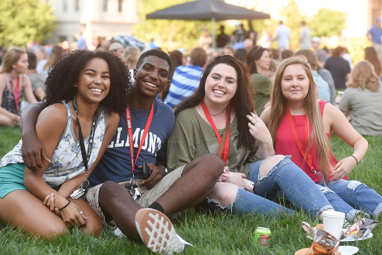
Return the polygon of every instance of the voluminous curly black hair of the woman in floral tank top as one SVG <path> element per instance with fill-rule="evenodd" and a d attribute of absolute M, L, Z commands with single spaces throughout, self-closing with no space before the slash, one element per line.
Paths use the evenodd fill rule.
<path fill-rule="evenodd" d="M 73 84 L 78 81 L 79 72 L 86 63 L 93 58 L 104 59 L 110 70 L 110 89 L 100 105 L 107 108 L 108 114 L 112 111 L 122 115 L 128 104 L 131 91 L 131 73 L 123 60 L 109 52 L 98 50 L 73 50 L 58 58 L 49 67 L 48 77 L 45 80 L 44 105 L 49 106 L 60 100 L 69 102 L 76 94 L 77 88 Z"/>

